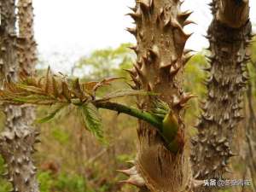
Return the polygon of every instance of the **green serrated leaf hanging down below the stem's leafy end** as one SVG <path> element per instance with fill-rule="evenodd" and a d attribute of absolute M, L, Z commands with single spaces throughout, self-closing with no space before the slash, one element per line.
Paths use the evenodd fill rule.
<path fill-rule="evenodd" d="M 92 132 L 100 142 L 104 143 L 102 118 L 98 112 L 98 109 L 90 102 L 80 106 L 79 108 L 85 128 Z"/>

